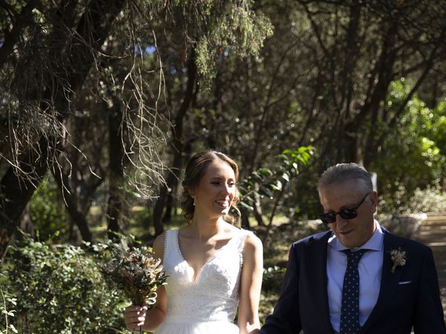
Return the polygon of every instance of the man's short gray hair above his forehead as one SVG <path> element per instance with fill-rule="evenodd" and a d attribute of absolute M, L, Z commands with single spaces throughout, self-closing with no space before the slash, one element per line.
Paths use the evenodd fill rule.
<path fill-rule="evenodd" d="M 337 164 L 325 170 L 319 177 L 318 190 L 325 188 L 325 186 L 341 184 L 350 180 L 360 182 L 364 189 L 369 192 L 374 190 L 369 172 L 363 166 L 353 162 L 350 164 Z"/>

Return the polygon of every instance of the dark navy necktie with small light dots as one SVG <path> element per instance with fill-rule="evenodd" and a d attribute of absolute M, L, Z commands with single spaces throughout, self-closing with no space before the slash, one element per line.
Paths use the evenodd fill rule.
<path fill-rule="evenodd" d="M 357 334 L 360 331 L 360 273 L 357 264 L 367 249 L 352 252 L 342 250 L 347 255 L 347 269 L 342 286 L 341 329 L 339 334 Z"/>

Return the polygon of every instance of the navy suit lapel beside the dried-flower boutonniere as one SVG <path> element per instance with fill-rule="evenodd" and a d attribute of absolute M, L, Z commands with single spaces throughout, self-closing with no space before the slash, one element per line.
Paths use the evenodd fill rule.
<path fill-rule="evenodd" d="M 393 262 L 390 257 L 390 251 L 398 249 L 403 246 L 403 239 L 395 237 L 387 231 L 384 231 L 384 252 L 383 252 L 383 273 L 381 275 L 381 285 L 378 295 L 378 301 L 364 326 L 362 326 L 360 333 L 366 333 L 367 329 L 375 321 L 378 321 L 381 313 L 385 310 L 388 302 L 392 300 L 392 294 L 397 290 L 398 283 L 403 275 L 403 267 L 397 267 L 392 273 Z"/>

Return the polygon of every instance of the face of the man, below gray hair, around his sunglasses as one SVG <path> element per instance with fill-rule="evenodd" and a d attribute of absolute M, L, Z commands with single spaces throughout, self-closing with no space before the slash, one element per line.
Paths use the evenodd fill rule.
<path fill-rule="evenodd" d="M 365 187 L 355 180 L 331 184 L 319 189 L 319 198 L 324 212 L 340 212 L 342 209 L 357 207 L 366 195 Z M 373 191 L 357 208 L 355 218 L 344 219 L 337 214 L 336 221 L 328 224 L 341 244 L 348 248 L 355 248 L 362 246 L 370 239 L 376 230 L 374 222 L 376 203 L 377 195 L 376 191 Z"/>

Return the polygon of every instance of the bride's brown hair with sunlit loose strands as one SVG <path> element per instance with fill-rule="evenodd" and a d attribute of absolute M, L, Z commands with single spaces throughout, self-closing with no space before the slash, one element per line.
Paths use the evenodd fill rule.
<path fill-rule="evenodd" d="M 217 159 L 222 160 L 231 166 L 232 170 L 234 171 L 234 175 L 236 175 L 236 184 L 238 182 L 238 166 L 236 161 L 233 161 L 233 159 L 228 157 L 226 154 L 215 150 L 203 150 L 190 158 L 190 160 L 187 161 L 184 180 L 181 182 L 183 185 L 183 194 L 181 195 L 180 199 L 181 209 L 183 209 L 183 214 L 189 223 L 192 221 L 195 210 L 194 198 L 190 196 L 189 191 L 195 189 L 199 185 L 201 177 L 203 177 L 203 175 L 206 173 L 208 166 Z M 233 211 L 236 212 L 236 215 L 229 212 L 228 215 L 224 216 L 224 221 L 236 226 L 239 226 L 240 218 L 240 211 L 237 208 L 237 203 L 239 200 L 240 193 L 236 185 L 236 192 L 231 203 L 231 207 Z"/>

